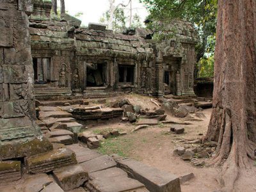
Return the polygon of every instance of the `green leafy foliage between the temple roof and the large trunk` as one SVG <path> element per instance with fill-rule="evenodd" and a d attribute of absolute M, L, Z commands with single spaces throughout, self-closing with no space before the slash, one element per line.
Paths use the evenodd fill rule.
<path fill-rule="evenodd" d="M 192 22 L 198 30 L 200 43 L 196 46 L 196 59 L 200 61 L 205 53 L 215 49 L 218 0 L 140 0 L 150 12 L 147 27 L 161 31 L 173 19 Z M 159 38 L 157 36 L 157 38 Z M 161 38 L 160 38 L 161 39 Z M 208 54 L 206 54 L 208 55 Z M 205 62 L 204 62 L 205 63 Z M 209 72 L 211 74 L 211 72 Z"/>

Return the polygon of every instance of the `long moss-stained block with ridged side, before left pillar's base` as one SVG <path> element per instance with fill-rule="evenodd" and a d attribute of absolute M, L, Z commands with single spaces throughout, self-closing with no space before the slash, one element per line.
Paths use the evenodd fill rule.
<path fill-rule="evenodd" d="M 76 163 L 76 154 L 68 148 L 57 148 L 45 154 L 27 157 L 25 161 L 29 173 L 47 173 Z"/>

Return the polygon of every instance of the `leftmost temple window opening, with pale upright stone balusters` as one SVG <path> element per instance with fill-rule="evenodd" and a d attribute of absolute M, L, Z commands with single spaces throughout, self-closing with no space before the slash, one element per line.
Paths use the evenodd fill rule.
<path fill-rule="evenodd" d="M 35 84 L 47 84 L 51 82 L 50 62 L 51 58 L 33 58 Z"/>

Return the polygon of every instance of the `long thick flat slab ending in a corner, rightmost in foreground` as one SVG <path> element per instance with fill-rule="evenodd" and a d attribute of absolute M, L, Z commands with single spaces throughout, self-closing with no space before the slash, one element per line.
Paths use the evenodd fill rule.
<path fill-rule="evenodd" d="M 118 167 L 129 174 L 132 179 L 136 179 L 145 184 L 149 191 L 156 192 L 180 192 L 180 179 L 172 173 L 164 172 L 147 166 L 133 159 L 118 161 Z"/>

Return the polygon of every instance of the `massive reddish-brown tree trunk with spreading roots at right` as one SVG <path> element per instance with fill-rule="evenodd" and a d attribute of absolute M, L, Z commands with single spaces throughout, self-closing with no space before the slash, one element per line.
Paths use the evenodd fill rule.
<path fill-rule="evenodd" d="M 212 163 L 232 189 L 256 149 L 256 1 L 219 0 L 213 111 L 206 140 L 218 141 Z"/>

